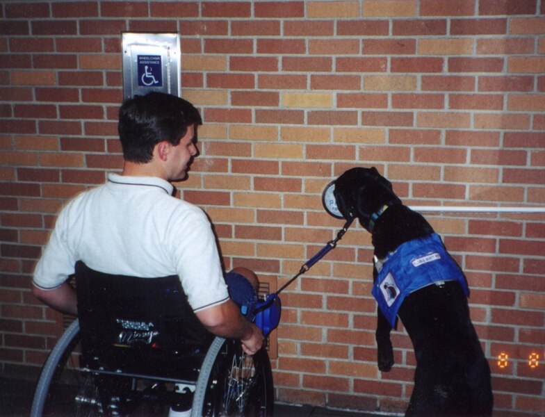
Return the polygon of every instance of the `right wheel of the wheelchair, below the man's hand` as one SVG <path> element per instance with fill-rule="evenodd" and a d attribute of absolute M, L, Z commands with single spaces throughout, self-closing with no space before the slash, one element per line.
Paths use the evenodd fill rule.
<path fill-rule="evenodd" d="M 191 417 L 273 416 L 273 373 L 265 348 L 246 355 L 240 341 L 215 338 L 202 364 Z"/>

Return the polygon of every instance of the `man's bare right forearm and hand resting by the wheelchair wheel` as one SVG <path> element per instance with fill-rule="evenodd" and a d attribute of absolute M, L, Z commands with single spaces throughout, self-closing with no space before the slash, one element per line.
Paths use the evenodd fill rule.
<path fill-rule="evenodd" d="M 204 327 L 216 336 L 239 339 L 247 354 L 254 354 L 263 345 L 261 329 L 246 320 L 231 300 L 197 311 L 196 315 Z"/>

